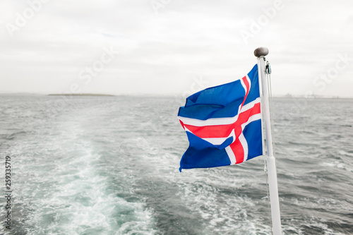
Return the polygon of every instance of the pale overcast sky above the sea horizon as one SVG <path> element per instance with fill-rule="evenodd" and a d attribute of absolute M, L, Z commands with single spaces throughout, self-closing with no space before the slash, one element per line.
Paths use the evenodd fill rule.
<path fill-rule="evenodd" d="M 0 25 L 0 92 L 190 95 L 264 46 L 274 95 L 353 97 L 349 0 L 1 0 Z"/>

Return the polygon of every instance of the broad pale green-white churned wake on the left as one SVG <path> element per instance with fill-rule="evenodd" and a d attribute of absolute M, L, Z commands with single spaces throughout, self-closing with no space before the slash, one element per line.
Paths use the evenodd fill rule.
<path fill-rule="evenodd" d="M 61 135 L 38 137 L 46 149 L 18 144 L 16 210 L 27 215 L 18 224 L 27 234 L 153 234 L 155 222 L 143 198 L 119 198 L 109 188 L 102 156 L 76 123 L 65 124 Z"/>

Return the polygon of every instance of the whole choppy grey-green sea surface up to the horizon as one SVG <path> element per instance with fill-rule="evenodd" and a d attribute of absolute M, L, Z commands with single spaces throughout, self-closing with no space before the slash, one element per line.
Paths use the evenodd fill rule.
<path fill-rule="evenodd" d="M 0 234 L 271 234 L 265 157 L 179 172 L 182 99 L 0 100 Z M 353 234 L 352 104 L 273 100 L 284 234 Z"/>

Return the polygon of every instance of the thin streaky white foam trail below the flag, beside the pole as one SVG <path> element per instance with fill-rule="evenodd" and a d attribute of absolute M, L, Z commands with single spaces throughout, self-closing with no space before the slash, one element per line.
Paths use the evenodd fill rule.
<path fill-rule="evenodd" d="M 270 234 L 269 222 L 264 222 L 261 217 L 248 215 L 256 210 L 255 201 L 246 195 L 225 195 L 227 193 L 218 191 L 220 188 L 236 191 L 237 188 L 256 186 L 256 180 L 251 177 L 244 180 L 244 176 L 239 177 L 237 171 L 228 167 L 222 170 L 191 169 L 180 173 L 178 167 L 181 156 L 161 150 L 157 147 L 157 141 L 151 138 L 126 141 L 148 153 L 139 157 L 146 167 L 153 166 L 153 171 L 149 173 L 151 178 L 169 182 L 179 188 L 174 196 L 174 203 L 180 202 L 187 207 L 193 214 L 191 217 L 201 217 L 199 234 L 229 234 L 229 231 L 234 231 L 235 234 Z M 265 205 L 266 203 L 267 200 Z"/>

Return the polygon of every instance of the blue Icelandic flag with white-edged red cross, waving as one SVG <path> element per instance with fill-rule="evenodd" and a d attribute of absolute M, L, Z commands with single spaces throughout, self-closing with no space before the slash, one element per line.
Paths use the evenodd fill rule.
<path fill-rule="evenodd" d="M 190 144 L 179 171 L 263 155 L 260 100 L 257 64 L 244 78 L 187 97 L 178 118 Z"/>

